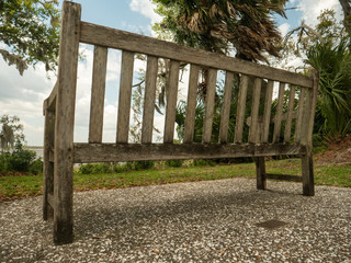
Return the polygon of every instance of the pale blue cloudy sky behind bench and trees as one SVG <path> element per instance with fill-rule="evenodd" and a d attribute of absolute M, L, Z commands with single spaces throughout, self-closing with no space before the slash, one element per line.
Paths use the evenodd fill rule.
<path fill-rule="evenodd" d="M 134 33 L 151 35 L 151 24 L 160 20 L 149 0 L 77 0 L 76 2 L 82 4 L 83 21 Z M 341 19 L 338 0 L 292 0 L 287 7 L 298 9 L 287 12 L 288 20 L 276 20 L 283 34 L 298 26 L 302 20 L 308 25 L 315 25 L 317 16 L 324 9 L 336 10 L 338 18 Z M 75 140 L 87 141 L 93 49 L 87 45 L 81 45 L 80 48 L 86 59 L 79 61 L 78 67 Z M 115 140 L 120 64 L 121 53 L 109 50 L 103 134 L 105 142 Z M 136 62 L 135 69 L 139 68 L 145 68 L 145 65 Z M 55 75 L 48 79 L 42 65 L 35 69 L 30 68 L 21 77 L 14 67 L 9 67 L 0 57 L 0 115 L 16 115 L 21 118 L 29 146 L 43 146 L 43 101 L 50 93 L 55 82 Z M 155 123 L 161 123 L 161 118 L 162 116 L 156 115 Z"/>

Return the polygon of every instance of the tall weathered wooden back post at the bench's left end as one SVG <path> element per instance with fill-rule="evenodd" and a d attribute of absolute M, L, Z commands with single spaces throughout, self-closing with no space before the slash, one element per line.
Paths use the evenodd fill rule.
<path fill-rule="evenodd" d="M 80 4 L 63 4 L 54 149 L 54 242 L 73 241 L 73 126 Z"/>

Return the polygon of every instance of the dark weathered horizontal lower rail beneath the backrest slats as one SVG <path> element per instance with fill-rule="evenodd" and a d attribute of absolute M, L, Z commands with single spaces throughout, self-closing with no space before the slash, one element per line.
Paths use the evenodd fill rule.
<path fill-rule="evenodd" d="M 305 155 L 296 144 L 75 144 L 75 162 L 117 162 Z"/>

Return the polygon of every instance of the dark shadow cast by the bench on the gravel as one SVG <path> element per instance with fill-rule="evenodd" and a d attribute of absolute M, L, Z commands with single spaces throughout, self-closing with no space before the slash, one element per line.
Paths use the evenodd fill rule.
<path fill-rule="evenodd" d="M 269 194 L 268 194 L 269 193 Z M 143 229 L 143 226 L 161 222 L 167 225 L 172 220 L 190 220 L 189 218 L 201 218 L 201 220 L 210 219 L 216 215 L 219 209 L 228 209 L 228 214 L 244 215 L 248 209 L 260 210 L 267 206 L 272 197 L 280 197 L 286 202 L 294 204 L 296 193 L 280 192 L 270 190 L 247 191 L 241 193 L 202 193 L 197 196 L 188 196 L 179 201 L 160 202 L 133 202 L 127 207 L 121 207 L 113 202 L 107 207 L 99 208 L 99 201 L 90 204 L 86 208 L 77 208 L 75 210 L 75 240 L 84 238 L 100 237 L 102 233 L 114 231 L 123 235 L 124 229 Z M 298 195 L 297 195 L 298 196 Z M 264 204 L 265 202 L 265 204 Z M 189 216 L 192 215 L 192 216 Z M 191 224 L 191 221 L 190 221 Z"/>

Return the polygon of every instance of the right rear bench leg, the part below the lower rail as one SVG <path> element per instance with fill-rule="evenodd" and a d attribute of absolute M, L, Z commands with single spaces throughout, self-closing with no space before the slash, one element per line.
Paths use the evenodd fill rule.
<path fill-rule="evenodd" d="M 302 157 L 302 173 L 303 173 L 303 194 L 305 196 L 315 195 L 314 182 L 314 162 L 312 153 Z"/>

